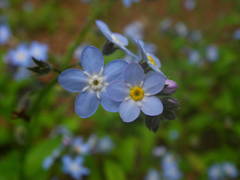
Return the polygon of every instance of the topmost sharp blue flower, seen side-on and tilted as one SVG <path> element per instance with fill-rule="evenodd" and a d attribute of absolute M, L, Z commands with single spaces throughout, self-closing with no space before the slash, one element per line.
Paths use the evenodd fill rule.
<path fill-rule="evenodd" d="M 128 45 L 128 39 L 124 37 L 123 35 L 119 33 L 113 33 L 101 20 L 96 21 L 96 25 L 98 29 L 102 32 L 102 34 L 105 36 L 105 38 L 114 44 L 116 47 L 122 49 L 124 52 L 126 52 L 130 56 L 135 56 L 132 52 L 130 52 L 126 46 Z"/>

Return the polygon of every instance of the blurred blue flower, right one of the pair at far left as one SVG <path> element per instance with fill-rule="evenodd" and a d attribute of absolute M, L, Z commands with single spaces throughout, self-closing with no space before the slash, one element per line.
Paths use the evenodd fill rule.
<path fill-rule="evenodd" d="M 47 60 L 48 46 L 39 42 L 32 42 L 29 48 L 30 54 L 37 60 Z"/>

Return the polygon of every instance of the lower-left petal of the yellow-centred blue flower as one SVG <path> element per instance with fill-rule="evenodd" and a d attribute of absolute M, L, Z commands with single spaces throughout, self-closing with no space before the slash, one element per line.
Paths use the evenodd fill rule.
<path fill-rule="evenodd" d="M 119 113 L 124 122 L 132 122 L 138 118 L 140 109 L 134 101 L 127 100 L 120 104 Z"/>

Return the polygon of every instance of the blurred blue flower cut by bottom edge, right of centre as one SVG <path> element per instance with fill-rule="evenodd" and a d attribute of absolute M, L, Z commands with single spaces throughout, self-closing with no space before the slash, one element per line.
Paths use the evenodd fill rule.
<path fill-rule="evenodd" d="M 162 159 L 163 177 L 168 180 L 181 179 L 182 173 L 178 168 L 178 163 L 172 154 L 166 154 Z"/>

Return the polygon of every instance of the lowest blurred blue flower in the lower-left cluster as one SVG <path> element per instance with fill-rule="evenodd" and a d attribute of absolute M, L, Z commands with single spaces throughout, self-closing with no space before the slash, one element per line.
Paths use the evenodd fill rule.
<path fill-rule="evenodd" d="M 81 179 L 82 176 L 89 174 L 89 169 L 82 165 L 83 158 L 81 156 L 73 159 L 70 156 L 65 155 L 62 158 L 62 162 L 64 173 L 69 174 L 74 179 Z"/>

